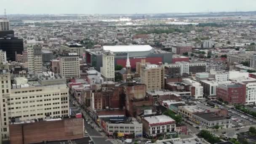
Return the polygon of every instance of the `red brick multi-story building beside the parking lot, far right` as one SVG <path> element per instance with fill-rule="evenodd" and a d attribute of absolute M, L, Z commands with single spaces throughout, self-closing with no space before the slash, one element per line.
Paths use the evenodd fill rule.
<path fill-rule="evenodd" d="M 245 104 L 246 100 L 246 84 L 231 83 L 219 84 L 216 88 L 217 98 L 227 101 L 229 104 Z"/>

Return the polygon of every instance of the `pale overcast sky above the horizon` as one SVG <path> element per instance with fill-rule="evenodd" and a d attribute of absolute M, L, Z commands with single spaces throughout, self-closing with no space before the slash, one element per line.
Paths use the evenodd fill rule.
<path fill-rule="evenodd" d="M 0 14 L 256 11 L 256 0 L 0 0 Z"/>

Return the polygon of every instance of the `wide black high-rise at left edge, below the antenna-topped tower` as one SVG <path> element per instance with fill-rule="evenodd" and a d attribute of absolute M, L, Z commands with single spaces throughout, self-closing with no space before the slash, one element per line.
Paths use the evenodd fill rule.
<path fill-rule="evenodd" d="M 24 49 L 23 39 L 7 35 L 7 37 L 0 38 L 0 49 L 6 51 L 7 61 L 15 61 L 15 52 L 22 54 Z"/>

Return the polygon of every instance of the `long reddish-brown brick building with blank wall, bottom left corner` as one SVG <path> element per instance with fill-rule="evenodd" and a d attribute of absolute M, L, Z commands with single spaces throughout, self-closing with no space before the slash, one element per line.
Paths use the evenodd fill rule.
<path fill-rule="evenodd" d="M 10 144 L 82 139 L 84 136 L 83 124 L 83 118 L 67 118 L 9 125 Z"/>

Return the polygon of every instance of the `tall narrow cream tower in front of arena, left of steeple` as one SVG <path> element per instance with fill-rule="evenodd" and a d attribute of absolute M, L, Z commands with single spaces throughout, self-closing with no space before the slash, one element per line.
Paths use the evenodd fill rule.
<path fill-rule="evenodd" d="M 115 55 L 111 51 L 102 54 L 101 74 L 106 81 L 115 81 Z"/>

